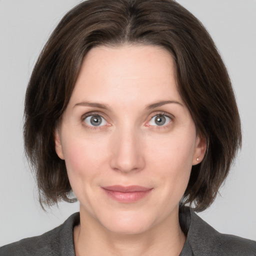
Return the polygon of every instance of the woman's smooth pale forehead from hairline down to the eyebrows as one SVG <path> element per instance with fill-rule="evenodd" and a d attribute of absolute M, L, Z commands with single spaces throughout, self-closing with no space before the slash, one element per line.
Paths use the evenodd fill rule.
<path fill-rule="evenodd" d="M 174 61 L 160 46 L 97 46 L 85 56 L 70 101 L 181 100 Z M 90 100 L 90 98 L 88 98 Z"/>

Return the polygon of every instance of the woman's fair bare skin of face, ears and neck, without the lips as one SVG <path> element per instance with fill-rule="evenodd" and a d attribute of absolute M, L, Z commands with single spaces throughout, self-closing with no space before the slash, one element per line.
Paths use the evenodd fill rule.
<path fill-rule="evenodd" d="M 99 126 L 91 124 L 92 115 L 101 118 Z M 157 115 L 165 117 L 162 125 Z M 80 202 L 76 255 L 180 253 L 185 236 L 178 203 L 191 166 L 204 156 L 205 140 L 177 91 L 165 49 L 92 48 L 55 131 L 55 148 Z M 117 184 L 152 189 L 125 203 L 102 189 Z"/>

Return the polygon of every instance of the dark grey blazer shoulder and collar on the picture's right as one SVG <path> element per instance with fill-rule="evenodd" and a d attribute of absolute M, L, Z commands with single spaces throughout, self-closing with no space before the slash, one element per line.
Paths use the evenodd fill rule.
<path fill-rule="evenodd" d="M 190 222 L 186 246 L 195 256 L 256 256 L 256 241 L 219 233 L 191 209 L 185 215 Z"/>

